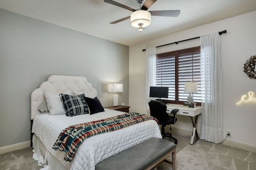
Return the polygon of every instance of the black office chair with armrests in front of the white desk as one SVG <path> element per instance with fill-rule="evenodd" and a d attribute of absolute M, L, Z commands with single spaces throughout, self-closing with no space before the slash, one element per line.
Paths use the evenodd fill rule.
<path fill-rule="evenodd" d="M 164 104 L 162 101 L 160 100 L 151 100 L 149 103 L 149 108 L 150 108 L 150 115 L 155 117 L 159 124 L 162 125 L 162 138 L 164 139 L 164 137 L 168 137 L 173 139 L 175 142 L 175 144 L 178 143 L 177 139 L 175 139 L 174 137 L 172 137 L 172 134 L 170 133 L 165 133 L 164 132 L 164 127 L 166 127 L 166 125 L 171 125 L 174 124 L 177 121 L 176 118 L 176 113 L 177 111 L 179 111 L 178 109 L 173 109 L 171 111 L 171 113 L 173 114 L 173 116 L 168 115 L 168 113 L 166 113 L 166 104 Z M 172 130 L 172 127 L 170 126 L 170 130 Z"/>

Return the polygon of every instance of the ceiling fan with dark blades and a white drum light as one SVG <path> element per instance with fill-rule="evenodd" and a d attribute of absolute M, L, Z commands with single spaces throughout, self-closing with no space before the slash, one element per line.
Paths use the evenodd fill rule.
<path fill-rule="evenodd" d="M 150 8 L 150 6 L 152 6 L 156 2 L 156 0 L 145 0 L 145 2 L 144 0 L 136 0 L 136 1 L 138 2 L 138 4 L 140 4 L 140 8 L 138 10 L 135 10 L 133 8 L 130 8 L 128 6 L 115 2 L 113 0 L 104 0 L 104 2 L 106 3 L 132 11 L 131 16 L 128 16 L 110 23 L 114 24 L 130 18 L 132 27 L 138 28 L 139 31 L 141 32 L 143 31 L 143 29 L 145 29 L 150 25 L 151 16 L 178 17 L 180 15 L 180 10 L 147 11 L 148 8 Z"/>

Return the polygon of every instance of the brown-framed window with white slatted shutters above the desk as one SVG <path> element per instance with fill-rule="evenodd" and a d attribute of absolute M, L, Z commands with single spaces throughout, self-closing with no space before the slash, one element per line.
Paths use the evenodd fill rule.
<path fill-rule="evenodd" d="M 169 87 L 165 102 L 183 104 L 188 94 L 185 82 L 197 82 L 198 93 L 193 93 L 194 102 L 201 103 L 200 47 L 182 49 L 156 55 L 156 86 Z"/>

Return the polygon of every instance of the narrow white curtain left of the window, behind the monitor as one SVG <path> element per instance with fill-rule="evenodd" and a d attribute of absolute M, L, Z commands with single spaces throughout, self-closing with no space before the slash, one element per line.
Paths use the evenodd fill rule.
<path fill-rule="evenodd" d="M 146 81 L 145 81 L 145 101 L 144 113 L 148 114 L 149 87 L 156 85 L 156 47 L 146 49 Z"/>

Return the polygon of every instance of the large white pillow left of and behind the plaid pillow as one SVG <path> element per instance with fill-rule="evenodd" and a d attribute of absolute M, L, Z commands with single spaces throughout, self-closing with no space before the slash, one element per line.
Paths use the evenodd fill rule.
<path fill-rule="evenodd" d="M 72 95 L 71 91 L 64 92 L 63 94 Z M 44 92 L 44 98 L 50 111 L 50 115 L 62 115 L 66 114 L 62 101 L 60 100 L 59 94 Z"/>

